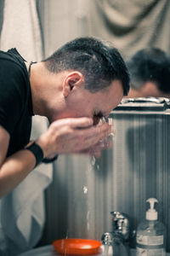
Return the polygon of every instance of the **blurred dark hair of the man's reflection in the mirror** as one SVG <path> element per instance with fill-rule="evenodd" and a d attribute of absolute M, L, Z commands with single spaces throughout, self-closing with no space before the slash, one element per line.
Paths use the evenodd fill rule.
<path fill-rule="evenodd" d="M 127 61 L 127 68 L 132 88 L 138 90 L 150 81 L 162 92 L 170 92 L 170 59 L 162 49 L 140 49 Z"/>

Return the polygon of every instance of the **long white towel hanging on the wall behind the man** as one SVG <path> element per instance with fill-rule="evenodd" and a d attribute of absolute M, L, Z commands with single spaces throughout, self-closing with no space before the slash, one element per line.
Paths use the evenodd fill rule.
<path fill-rule="evenodd" d="M 35 0 L 6 0 L 0 47 L 15 47 L 26 61 L 42 59 L 42 38 Z M 48 129 L 48 121 L 33 117 L 31 138 Z M 0 255 L 14 256 L 37 244 L 45 221 L 44 189 L 52 181 L 52 164 L 37 166 L 0 201 Z"/>

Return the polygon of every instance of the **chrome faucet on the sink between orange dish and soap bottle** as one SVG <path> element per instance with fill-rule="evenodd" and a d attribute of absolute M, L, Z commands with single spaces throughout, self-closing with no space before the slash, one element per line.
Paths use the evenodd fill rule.
<path fill-rule="evenodd" d="M 129 219 L 123 212 L 111 212 L 112 231 L 102 235 L 105 256 L 127 256 L 129 248 Z"/>

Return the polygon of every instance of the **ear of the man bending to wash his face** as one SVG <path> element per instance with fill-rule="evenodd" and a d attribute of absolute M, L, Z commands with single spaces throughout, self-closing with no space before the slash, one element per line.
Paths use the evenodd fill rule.
<path fill-rule="evenodd" d="M 84 83 L 84 77 L 81 72 L 73 71 L 65 76 L 63 81 L 63 96 L 67 97 L 74 87 Z"/>

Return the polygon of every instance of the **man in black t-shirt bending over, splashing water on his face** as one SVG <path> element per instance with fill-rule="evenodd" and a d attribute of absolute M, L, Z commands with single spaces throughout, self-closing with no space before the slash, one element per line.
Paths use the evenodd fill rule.
<path fill-rule="evenodd" d="M 0 53 L 0 196 L 56 154 L 95 148 L 99 155 L 99 141 L 111 133 L 99 119 L 129 89 L 122 56 L 95 38 L 77 38 L 31 64 L 16 49 Z M 50 125 L 29 143 L 34 114 Z"/>

